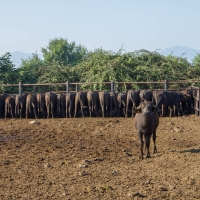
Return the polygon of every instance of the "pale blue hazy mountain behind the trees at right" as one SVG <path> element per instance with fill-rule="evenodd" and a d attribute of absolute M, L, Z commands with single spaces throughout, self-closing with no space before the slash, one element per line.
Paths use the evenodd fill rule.
<path fill-rule="evenodd" d="M 193 58 L 200 53 L 200 50 L 192 49 L 189 47 L 173 46 L 164 50 L 159 51 L 163 56 L 168 56 L 172 54 L 173 56 L 181 56 L 187 58 L 188 62 L 192 63 Z"/>

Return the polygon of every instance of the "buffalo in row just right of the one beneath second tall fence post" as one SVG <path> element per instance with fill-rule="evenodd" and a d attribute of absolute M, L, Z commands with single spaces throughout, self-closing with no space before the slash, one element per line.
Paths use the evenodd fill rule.
<path fill-rule="evenodd" d="M 85 117 L 84 109 L 88 107 L 87 92 L 80 91 L 76 93 L 74 117 L 77 116 L 78 105 L 80 105 L 82 117 Z"/>

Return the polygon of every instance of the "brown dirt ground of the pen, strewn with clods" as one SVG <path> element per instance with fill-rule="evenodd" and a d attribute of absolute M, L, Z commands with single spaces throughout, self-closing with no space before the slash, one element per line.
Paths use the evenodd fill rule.
<path fill-rule="evenodd" d="M 0 199 L 200 199 L 195 115 L 160 118 L 144 160 L 133 118 L 30 121 L 0 120 Z"/>

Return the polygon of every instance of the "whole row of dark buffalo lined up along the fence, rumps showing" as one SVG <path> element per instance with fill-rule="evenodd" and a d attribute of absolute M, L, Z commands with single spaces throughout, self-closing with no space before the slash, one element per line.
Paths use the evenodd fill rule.
<path fill-rule="evenodd" d="M 136 107 L 151 101 L 160 116 L 180 116 L 194 112 L 193 91 L 129 90 L 127 92 L 79 91 L 68 94 L 46 92 L 11 96 L 0 94 L 0 118 L 59 118 L 77 116 L 135 116 Z"/>

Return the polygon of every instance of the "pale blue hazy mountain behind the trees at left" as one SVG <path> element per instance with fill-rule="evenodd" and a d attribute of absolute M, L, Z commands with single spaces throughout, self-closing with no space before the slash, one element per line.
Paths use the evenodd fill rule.
<path fill-rule="evenodd" d="M 38 56 L 39 58 L 43 59 L 43 56 L 41 54 L 38 54 Z M 21 65 L 21 59 L 27 59 L 29 57 L 32 57 L 32 54 L 14 51 L 13 53 L 11 53 L 10 60 L 13 62 L 15 67 L 18 68 Z"/>

